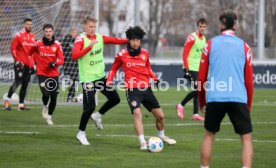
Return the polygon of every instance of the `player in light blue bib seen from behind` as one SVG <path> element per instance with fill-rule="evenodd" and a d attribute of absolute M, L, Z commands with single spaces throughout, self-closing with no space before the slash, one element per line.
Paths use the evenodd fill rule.
<path fill-rule="evenodd" d="M 226 11 L 219 21 L 221 35 L 205 45 L 198 74 L 201 111 L 205 111 L 206 105 L 201 167 L 209 167 L 213 141 L 227 113 L 241 138 L 242 166 L 250 168 L 253 158 L 249 113 L 253 96 L 252 54 L 248 44 L 235 36 L 237 15 Z"/>

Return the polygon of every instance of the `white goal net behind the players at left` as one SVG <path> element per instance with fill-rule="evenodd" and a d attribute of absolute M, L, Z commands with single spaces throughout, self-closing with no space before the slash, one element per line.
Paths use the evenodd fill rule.
<path fill-rule="evenodd" d="M 87 15 L 95 15 L 94 0 L 8 0 L 0 1 L 0 102 L 3 103 L 9 87 L 14 81 L 13 59 L 10 43 L 13 36 L 22 29 L 22 22 L 29 17 L 33 21 L 32 32 L 36 39 L 43 37 L 42 27 L 46 23 L 54 26 L 55 38 L 62 42 L 71 28 L 82 32 L 82 20 Z M 60 67 L 59 81 L 65 78 L 63 67 Z M 62 90 L 63 89 L 63 90 Z M 18 102 L 18 93 L 12 96 L 12 103 Z M 77 87 L 76 97 L 82 89 Z M 68 88 L 60 86 L 58 102 L 66 102 Z M 81 99 L 81 97 L 79 97 Z M 75 99 L 76 100 L 76 99 Z M 36 75 L 32 75 L 26 103 L 40 103 L 41 92 Z"/>

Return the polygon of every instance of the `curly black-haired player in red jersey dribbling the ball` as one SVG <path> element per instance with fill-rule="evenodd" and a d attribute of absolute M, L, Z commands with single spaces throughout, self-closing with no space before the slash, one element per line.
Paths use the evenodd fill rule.
<path fill-rule="evenodd" d="M 147 149 L 142 123 L 141 104 L 156 118 L 158 136 L 165 143 L 176 143 L 174 139 L 165 136 L 164 113 L 150 87 L 150 78 L 153 78 L 156 82 L 158 79 L 151 69 L 148 51 L 141 48 L 141 40 L 144 35 L 144 30 L 139 26 L 130 27 L 126 31 L 126 37 L 129 40 L 127 48 L 116 55 L 114 64 L 107 78 L 107 84 L 110 85 L 116 72 L 122 67 L 125 73 L 127 101 L 131 113 L 134 115 L 134 127 L 140 141 L 141 150 Z"/>

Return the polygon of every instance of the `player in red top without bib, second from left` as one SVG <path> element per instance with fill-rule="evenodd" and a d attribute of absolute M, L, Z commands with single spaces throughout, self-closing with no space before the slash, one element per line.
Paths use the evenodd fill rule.
<path fill-rule="evenodd" d="M 54 124 L 52 115 L 56 108 L 57 95 L 59 93 L 58 66 L 64 63 L 61 44 L 55 40 L 53 30 L 54 28 L 51 24 L 43 26 L 44 37 L 36 42 L 37 47 L 34 50 L 36 51 L 36 73 L 44 105 L 42 116 L 48 125 Z"/>

